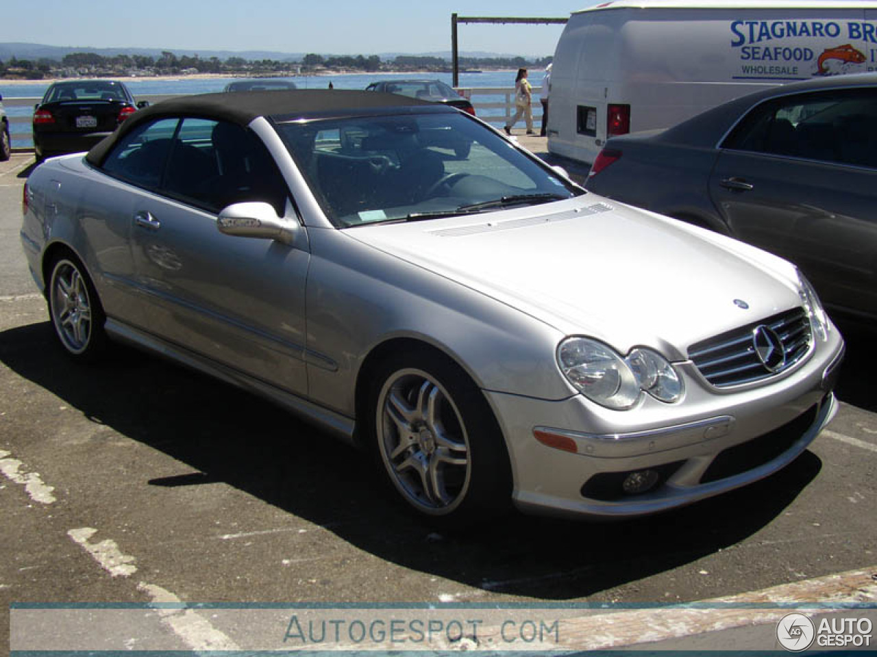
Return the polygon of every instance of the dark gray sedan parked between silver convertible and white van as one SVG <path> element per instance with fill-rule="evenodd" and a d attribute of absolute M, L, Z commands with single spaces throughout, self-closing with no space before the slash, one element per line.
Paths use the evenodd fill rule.
<path fill-rule="evenodd" d="M 877 318 L 877 74 L 775 87 L 611 138 L 586 187 L 788 258 L 826 306 Z"/>

